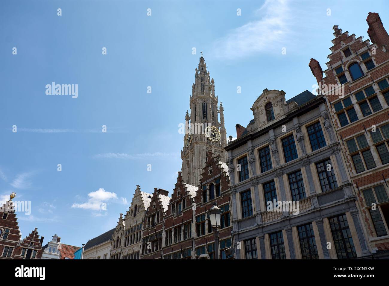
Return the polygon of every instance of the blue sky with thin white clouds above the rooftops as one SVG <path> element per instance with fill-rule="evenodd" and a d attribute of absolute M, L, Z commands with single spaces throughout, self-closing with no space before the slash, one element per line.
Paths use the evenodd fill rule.
<path fill-rule="evenodd" d="M 15 191 L 15 200 L 31 201 L 31 214 L 18 214 L 23 237 L 37 227 L 45 242 L 57 234 L 81 246 L 116 226 L 136 185 L 149 193 L 173 189 L 183 145 L 178 125 L 200 51 L 224 105 L 227 136 L 235 137 L 235 125 L 252 119 L 250 107 L 263 89 L 283 89 L 287 99 L 312 91 L 308 63 L 315 58 L 326 68 L 334 25 L 367 39 L 368 12 L 378 12 L 387 27 L 388 6 L 2 1 L 0 198 Z M 53 81 L 78 84 L 78 97 L 46 95 Z"/>

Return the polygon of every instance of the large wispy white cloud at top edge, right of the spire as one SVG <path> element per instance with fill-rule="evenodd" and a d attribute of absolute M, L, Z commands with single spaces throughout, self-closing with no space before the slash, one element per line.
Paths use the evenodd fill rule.
<path fill-rule="evenodd" d="M 216 40 L 215 56 L 222 59 L 245 57 L 267 52 L 275 45 L 285 42 L 290 25 L 288 4 L 288 0 L 266 0 L 255 13 L 258 20 L 236 28 Z M 280 53 L 282 47 L 277 47 Z"/>

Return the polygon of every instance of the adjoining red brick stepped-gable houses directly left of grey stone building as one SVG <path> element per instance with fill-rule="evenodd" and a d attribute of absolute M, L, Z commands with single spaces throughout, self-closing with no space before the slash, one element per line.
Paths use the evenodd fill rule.
<path fill-rule="evenodd" d="M 154 189 L 145 215 L 141 259 L 214 259 L 215 238 L 207 219 L 207 211 L 214 204 L 223 209 L 219 255 L 226 258 L 223 250 L 232 245 L 227 169 L 227 165 L 217 161 L 211 151 L 207 152 L 199 185 L 186 184 L 179 172 L 167 209 L 161 196 L 165 198 L 168 192 Z"/>

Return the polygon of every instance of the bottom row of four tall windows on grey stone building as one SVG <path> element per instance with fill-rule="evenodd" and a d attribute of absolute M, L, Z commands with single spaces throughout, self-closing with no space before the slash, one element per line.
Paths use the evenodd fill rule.
<path fill-rule="evenodd" d="M 329 218 L 329 225 L 331 227 L 338 259 L 357 257 L 346 214 L 340 214 Z M 303 259 L 319 259 L 312 223 L 298 226 L 297 232 L 300 242 L 301 257 Z M 272 259 L 286 259 L 282 230 L 269 233 L 269 240 Z M 246 259 L 258 259 L 255 238 L 245 240 L 244 247 Z"/>

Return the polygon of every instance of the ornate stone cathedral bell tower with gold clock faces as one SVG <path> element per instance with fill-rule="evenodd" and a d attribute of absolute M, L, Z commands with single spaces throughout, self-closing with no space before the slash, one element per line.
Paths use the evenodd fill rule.
<path fill-rule="evenodd" d="M 226 128 L 224 128 L 223 105 L 215 95 L 215 82 L 210 79 L 203 56 L 195 69 L 195 83 L 189 100 L 190 113 L 186 111 L 187 133 L 181 151 L 182 179 L 197 186 L 202 168 L 207 161 L 206 151 L 212 150 L 219 161 L 225 162 L 227 153 Z M 219 116 L 220 114 L 220 121 Z"/>

